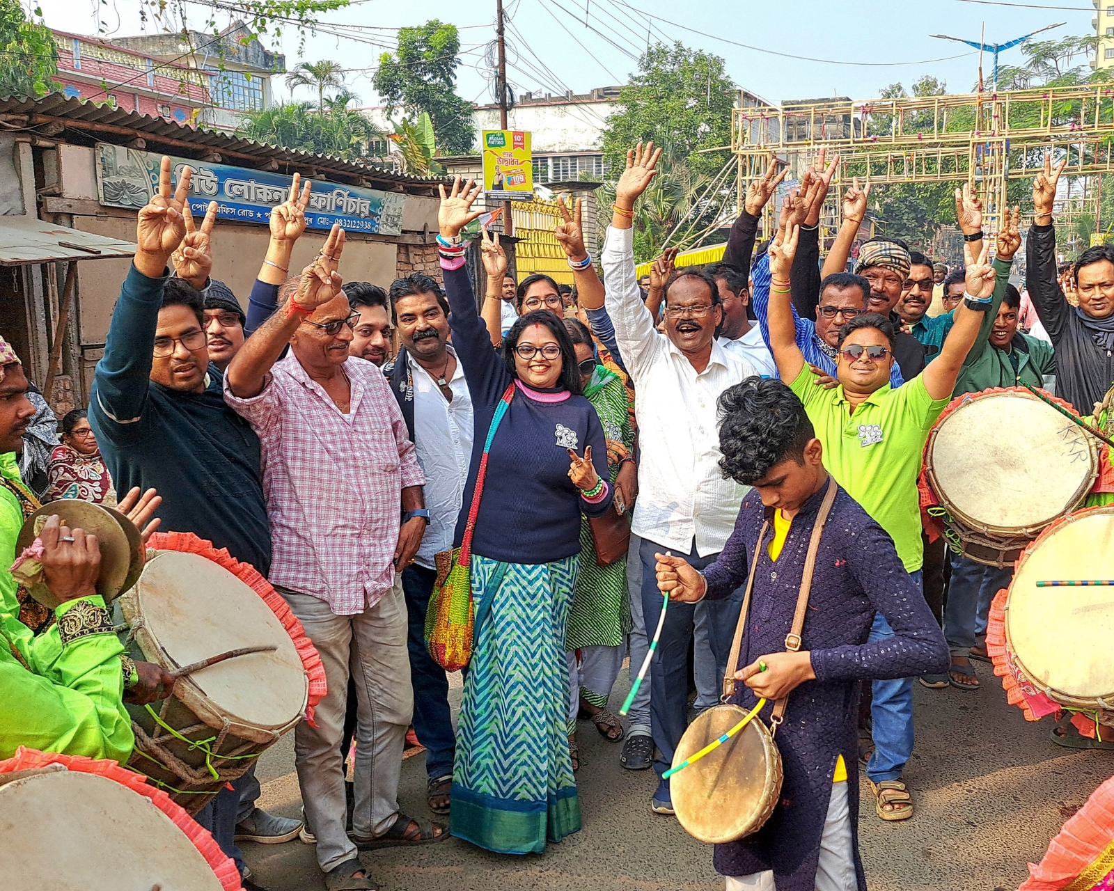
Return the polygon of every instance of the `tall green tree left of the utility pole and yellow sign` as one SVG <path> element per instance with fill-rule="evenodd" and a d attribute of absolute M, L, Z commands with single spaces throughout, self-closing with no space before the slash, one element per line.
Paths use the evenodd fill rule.
<path fill-rule="evenodd" d="M 427 112 L 437 147 L 448 155 L 472 151 L 476 138 L 472 104 L 456 94 L 459 52 L 457 26 L 432 19 L 402 28 L 398 50 L 379 57 L 372 78 L 388 116 L 400 108 L 408 126 L 416 127 L 421 112 Z"/>

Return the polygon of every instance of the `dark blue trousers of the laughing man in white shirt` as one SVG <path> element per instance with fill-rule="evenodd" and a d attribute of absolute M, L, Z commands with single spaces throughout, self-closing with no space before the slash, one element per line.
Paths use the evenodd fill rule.
<path fill-rule="evenodd" d="M 662 593 L 657 589 L 654 554 L 664 554 L 666 548 L 649 539 L 643 539 L 639 548 L 642 558 L 642 614 L 646 623 L 646 637 L 653 639 L 657 619 L 662 615 Z M 675 554 L 691 566 L 703 569 L 715 562 L 720 555 L 696 556 L 696 545 L 688 554 Z M 702 601 L 707 610 L 709 645 L 715 657 L 716 670 L 722 678 L 731 655 L 731 640 L 739 623 L 742 606 L 742 590 L 725 600 Z M 665 625 L 657 642 L 657 649 L 651 662 L 649 723 L 654 743 L 661 754 L 654 762 L 654 770 L 661 776 L 673 763 L 673 751 L 688 726 L 688 645 L 693 637 L 695 604 L 671 603 L 665 614 Z M 645 682 L 643 682 L 645 683 Z M 664 791 L 664 790 L 662 790 Z"/>

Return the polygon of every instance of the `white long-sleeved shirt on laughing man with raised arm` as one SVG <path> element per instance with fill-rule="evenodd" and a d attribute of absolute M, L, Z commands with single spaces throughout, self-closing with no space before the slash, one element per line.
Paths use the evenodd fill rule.
<path fill-rule="evenodd" d="M 635 278 L 633 233 L 608 227 L 602 254 L 607 313 L 635 385 L 638 421 L 638 500 L 633 531 L 663 548 L 701 557 L 719 554 L 731 535 L 746 489 L 720 473 L 716 400 L 758 374 L 719 343 L 704 371 L 668 337 L 658 336 Z"/>

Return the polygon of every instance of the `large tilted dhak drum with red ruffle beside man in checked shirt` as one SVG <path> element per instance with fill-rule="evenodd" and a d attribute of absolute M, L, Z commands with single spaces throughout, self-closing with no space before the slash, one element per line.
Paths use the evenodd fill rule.
<path fill-rule="evenodd" d="M 289 628 L 303 631 L 292 615 L 280 620 L 260 594 L 201 554 L 158 551 L 119 603 L 141 657 L 169 672 L 241 647 L 275 647 L 180 677 L 163 702 L 129 706 L 136 745 L 128 766 L 197 813 L 315 702 L 300 654 L 307 642 L 295 646 Z"/>

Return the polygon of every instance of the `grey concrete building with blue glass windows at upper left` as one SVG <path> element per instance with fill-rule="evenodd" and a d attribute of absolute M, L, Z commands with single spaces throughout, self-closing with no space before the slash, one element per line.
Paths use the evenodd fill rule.
<path fill-rule="evenodd" d="M 111 43 L 204 72 L 212 102 L 199 123 L 226 133 L 235 131 L 248 111 L 271 107 L 271 78 L 286 70 L 286 57 L 267 50 L 242 21 L 216 37 L 186 31 L 114 37 Z"/>

